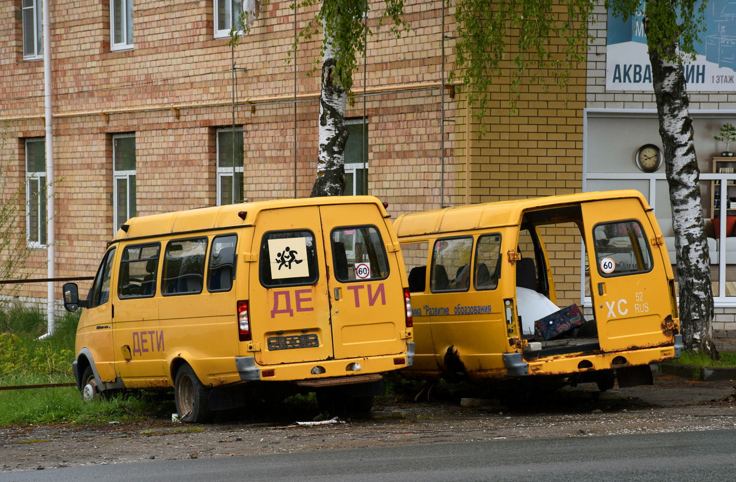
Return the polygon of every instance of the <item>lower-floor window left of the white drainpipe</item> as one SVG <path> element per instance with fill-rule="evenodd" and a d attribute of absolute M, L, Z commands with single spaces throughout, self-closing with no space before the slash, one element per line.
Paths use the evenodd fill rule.
<path fill-rule="evenodd" d="M 46 246 L 46 140 L 26 139 L 26 228 L 31 248 Z"/>

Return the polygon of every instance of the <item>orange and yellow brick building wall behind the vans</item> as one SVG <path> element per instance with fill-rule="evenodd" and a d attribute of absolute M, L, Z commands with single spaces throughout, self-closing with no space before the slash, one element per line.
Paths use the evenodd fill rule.
<path fill-rule="evenodd" d="M 8 187 L 26 191 L 29 206 L 21 209 L 35 248 L 28 273 L 18 277 L 43 272 L 46 259 L 46 234 L 36 230 L 46 181 L 41 3 L 0 5 Z M 289 5 L 264 5 L 231 51 L 229 0 L 51 3 L 56 276 L 91 275 L 127 217 L 231 202 L 233 179 L 236 201 L 309 194 L 319 71 L 305 71 L 321 39 L 287 55 L 295 29 L 314 18 L 314 11 L 294 15 Z M 387 201 L 394 217 L 580 190 L 585 71 L 559 91 L 524 85 L 514 115 L 509 80 L 500 79 L 488 132 L 478 139 L 461 95 L 442 88 L 453 68 L 453 12 L 441 1 L 410 2 L 411 32 L 400 38 L 378 25 L 380 11 L 369 12 L 375 35 L 347 109 L 348 190 Z M 244 153 L 234 172 L 233 143 Z M 573 276 L 567 289 L 576 283 Z M 21 295 L 43 297 L 45 288 L 26 285 Z"/>

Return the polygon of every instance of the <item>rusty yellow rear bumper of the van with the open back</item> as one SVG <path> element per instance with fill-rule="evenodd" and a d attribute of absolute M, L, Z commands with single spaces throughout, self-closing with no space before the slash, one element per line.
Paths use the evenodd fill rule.
<path fill-rule="evenodd" d="M 677 358 L 678 346 L 666 345 L 655 348 L 638 348 L 613 353 L 580 354 L 554 359 L 525 359 L 529 375 L 568 375 L 595 370 L 635 367 Z M 616 363 L 613 361 L 616 359 Z"/>

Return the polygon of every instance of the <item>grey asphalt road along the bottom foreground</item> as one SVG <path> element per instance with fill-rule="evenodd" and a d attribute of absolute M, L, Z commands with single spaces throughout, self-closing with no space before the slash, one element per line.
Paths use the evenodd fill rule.
<path fill-rule="evenodd" d="M 736 430 L 504 439 L 0 474 L 5 481 L 732 481 Z"/>

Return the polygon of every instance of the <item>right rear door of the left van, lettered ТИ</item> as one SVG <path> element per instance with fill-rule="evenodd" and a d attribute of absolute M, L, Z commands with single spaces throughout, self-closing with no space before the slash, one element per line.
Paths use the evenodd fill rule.
<path fill-rule="evenodd" d="M 331 269 L 327 282 L 333 296 L 335 358 L 403 353 L 403 260 L 378 206 L 320 206 L 319 212 Z"/>

